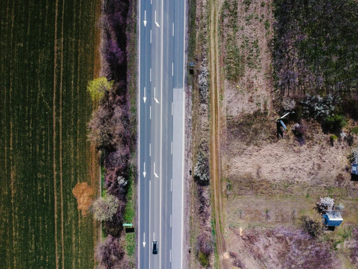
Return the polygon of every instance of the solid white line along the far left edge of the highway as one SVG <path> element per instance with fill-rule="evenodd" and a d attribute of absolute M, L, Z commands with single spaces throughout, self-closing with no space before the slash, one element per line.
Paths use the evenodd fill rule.
<path fill-rule="evenodd" d="M 140 0 L 139 0 L 139 47 L 138 52 L 140 52 Z M 139 54 L 139 65 L 138 65 L 138 234 L 140 235 L 140 53 Z M 138 268 L 140 268 L 140 236 L 138 236 Z"/>

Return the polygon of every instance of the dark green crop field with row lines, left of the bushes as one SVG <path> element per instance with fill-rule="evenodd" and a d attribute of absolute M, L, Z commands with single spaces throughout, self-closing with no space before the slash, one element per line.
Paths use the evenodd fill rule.
<path fill-rule="evenodd" d="M 99 190 L 87 140 L 100 0 L 0 1 L 0 268 L 89 269 L 98 225 L 72 189 Z"/>

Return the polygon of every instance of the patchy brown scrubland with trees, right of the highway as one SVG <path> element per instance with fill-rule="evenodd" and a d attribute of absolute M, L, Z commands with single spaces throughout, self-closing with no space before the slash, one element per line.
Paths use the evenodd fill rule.
<path fill-rule="evenodd" d="M 218 268 L 221 261 L 226 268 L 356 268 L 358 184 L 350 164 L 358 143 L 357 2 L 196 0 L 189 7 L 188 61 L 195 64 L 188 75 L 190 268 Z M 217 56 L 208 47 L 212 9 L 218 13 L 219 74 L 206 69 Z M 212 161 L 206 145 L 214 126 L 203 82 L 210 87 L 212 76 L 220 80 L 219 229 L 214 217 L 220 209 L 207 198 L 213 197 L 210 171 L 209 183 L 202 181 L 204 157 Z M 287 130 L 278 137 L 276 119 L 288 112 Z M 344 204 L 334 231 L 316 209 L 327 196 Z M 308 233 L 307 219 L 322 233 Z M 202 231 L 211 237 L 202 240 Z M 202 248 L 208 242 L 210 253 Z"/>

